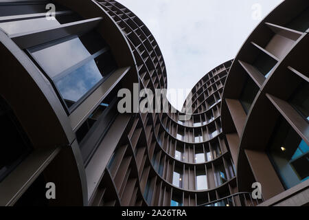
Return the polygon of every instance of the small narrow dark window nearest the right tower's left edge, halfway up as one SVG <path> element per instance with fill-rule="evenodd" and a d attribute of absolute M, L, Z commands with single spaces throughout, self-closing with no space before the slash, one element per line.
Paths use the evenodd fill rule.
<path fill-rule="evenodd" d="M 247 79 L 244 83 L 244 88 L 242 89 L 242 94 L 240 94 L 240 103 L 244 108 L 244 111 L 248 114 L 253 103 L 255 96 L 258 94 L 259 87 L 251 80 Z"/>

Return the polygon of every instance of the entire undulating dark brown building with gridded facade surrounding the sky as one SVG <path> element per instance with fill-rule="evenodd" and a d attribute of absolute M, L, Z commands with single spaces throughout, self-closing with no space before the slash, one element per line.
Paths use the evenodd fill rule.
<path fill-rule="evenodd" d="M 117 109 L 119 89 L 168 87 L 124 5 L 0 1 L 0 206 L 308 205 L 308 29 L 309 2 L 284 1 L 194 86 L 181 120 L 170 103 Z"/>

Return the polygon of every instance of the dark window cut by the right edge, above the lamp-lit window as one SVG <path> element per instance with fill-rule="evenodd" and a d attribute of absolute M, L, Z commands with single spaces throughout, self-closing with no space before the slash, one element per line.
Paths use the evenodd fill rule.
<path fill-rule="evenodd" d="M 290 99 L 290 104 L 309 122 L 309 83 L 304 82 L 299 85 Z"/>

